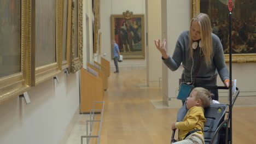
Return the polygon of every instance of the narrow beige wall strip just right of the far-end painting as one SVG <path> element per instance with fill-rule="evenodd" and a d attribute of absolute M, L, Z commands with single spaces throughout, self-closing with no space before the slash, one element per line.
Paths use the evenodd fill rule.
<path fill-rule="evenodd" d="M 156 49 L 154 40 L 161 39 L 161 1 L 147 0 L 147 84 L 149 87 L 159 87 L 162 77 L 161 53 Z"/>

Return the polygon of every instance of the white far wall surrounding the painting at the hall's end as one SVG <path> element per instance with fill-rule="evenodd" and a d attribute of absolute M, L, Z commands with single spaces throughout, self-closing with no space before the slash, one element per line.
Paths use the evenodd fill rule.
<path fill-rule="evenodd" d="M 145 0 L 103 0 L 101 1 L 101 55 L 110 61 L 114 68 L 114 61 L 111 57 L 111 15 L 123 14 L 124 11 L 130 10 L 133 14 L 145 14 Z M 104 53 L 106 55 L 104 56 Z M 119 67 L 134 68 L 145 67 L 145 59 L 124 59 L 119 63 Z"/>

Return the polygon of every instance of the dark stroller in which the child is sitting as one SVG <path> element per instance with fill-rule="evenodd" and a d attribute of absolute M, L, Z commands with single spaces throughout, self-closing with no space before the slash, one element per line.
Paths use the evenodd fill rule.
<path fill-rule="evenodd" d="M 205 87 L 208 88 L 208 87 Z M 227 87 L 213 87 L 215 89 L 229 89 Z M 231 107 L 234 105 L 236 98 L 239 94 L 239 89 L 236 87 L 236 93 L 232 99 Z M 205 143 L 228 143 L 230 141 L 229 135 L 229 122 L 230 111 L 228 110 L 228 104 L 211 104 L 210 107 L 205 109 L 206 123 L 204 126 Z M 177 114 L 177 122 L 183 121 L 187 113 L 186 105 L 183 101 L 183 106 L 179 109 Z M 174 142 L 174 134 L 176 130 L 172 132 L 171 143 Z"/>

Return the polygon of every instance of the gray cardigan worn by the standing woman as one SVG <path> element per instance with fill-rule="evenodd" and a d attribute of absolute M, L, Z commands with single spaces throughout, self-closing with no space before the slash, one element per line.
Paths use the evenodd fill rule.
<path fill-rule="evenodd" d="M 176 43 L 175 50 L 172 57 L 163 59 L 166 66 L 172 71 L 177 70 L 179 66 L 183 65 L 183 79 L 185 82 L 191 82 L 191 67 L 193 64 L 192 58 L 189 57 L 189 32 L 184 31 L 179 35 Z M 222 44 L 220 43 L 217 35 L 212 33 L 212 63 L 211 65 L 206 65 L 204 56 L 201 60 L 200 69 L 196 76 L 197 86 L 216 86 L 217 85 L 217 75 L 219 73 L 220 79 L 224 81 L 229 79 L 229 71 L 226 68 L 224 52 Z M 194 65 L 192 69 L 192 77 L 196 75 L 196 69 L 200 61 L 200 48 L 193 50 Z"/>

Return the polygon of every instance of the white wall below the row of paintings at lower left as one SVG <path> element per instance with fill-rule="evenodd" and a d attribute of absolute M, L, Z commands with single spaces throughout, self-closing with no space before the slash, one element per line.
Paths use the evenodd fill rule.
<path fill-rule="evenodd" d="M 28 91 L 31 103 L 15 97 L 0 105 L 0 143 L 59 143 L 79 108 L 78 73 L 60 83 L 48 80 Z"/>

